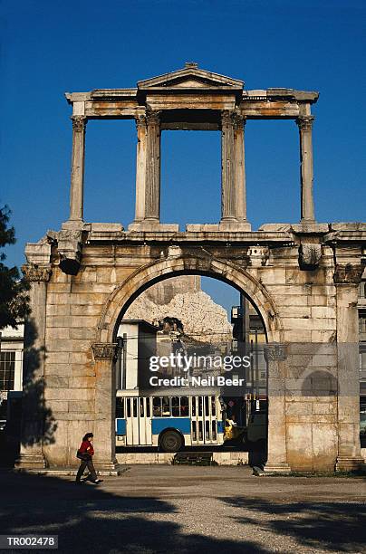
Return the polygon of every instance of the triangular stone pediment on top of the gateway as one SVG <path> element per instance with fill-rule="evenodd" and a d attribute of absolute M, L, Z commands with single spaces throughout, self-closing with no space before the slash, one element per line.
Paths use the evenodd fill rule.
<path fill-rule="evenodd" d="M 232 89 L 241 91 L 243 87 L 244 81 L 198 69 L 196 63 L 186 63 L 186 66 L 177 72 L 165 73 L 138 82 L 140 91 L 154 89 Z"/>

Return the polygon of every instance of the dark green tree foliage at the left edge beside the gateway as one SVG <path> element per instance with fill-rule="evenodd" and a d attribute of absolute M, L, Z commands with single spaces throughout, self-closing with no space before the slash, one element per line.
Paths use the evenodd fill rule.
<path fill-rule="evenodd" d="M 9 226 L 9 215 L 11 214 L 7 205 L 0 209 L 0 248 L 6 244 L 15 243 L 15 231 Z M 24 320 L 29 313 L 29 297 L 26 291 L 29 284 L 21 278 L 17 267 L 7 267 L 4 263 L 5 253 L 0 254 L 0 329 L 6 326 L 16 327 L 17 323 Z"/>

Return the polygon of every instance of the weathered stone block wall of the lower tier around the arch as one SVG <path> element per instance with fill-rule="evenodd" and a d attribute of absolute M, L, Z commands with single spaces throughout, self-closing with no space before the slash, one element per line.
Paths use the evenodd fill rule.
<path fill-rule="evenodd" d="M 117 232 L 87 234 L 76 275 L 60 269 L 54 242 L 43 254 L 43 269 L 42 264 L 36 266 L 43 245 L 33 245 L 28 273 L 33 275 L 38 358 L 28 357 L 36 364 L 29 363 L 26 371 L 29 382 L 38 383 L 33 389 L 50 425 L 40 439 L 32 431 L 37 428 L 34 411 L 25 413 L 33 427 L 24 426 L 21 466 L 29 467 L 32 460 L 41 463 L 42 456 L 50 465 L 77 463 L 76 448 L 91 430 L 98 445 L 96 462 L 113 465 L 112 343 L 120 310 L 149 282 L 184 272 L 236 285 L 264 320 L 269 342 L 266 467 L 329 470 L 335 463 L 338 469 L 360 463 L 354 353 L 361 246 L 356 243 L 350 249 L 346 244 L 334 253 L 334 246 L 324 243 L 318 266 L 301 270 L 298 236 L 284 234 L 286 244 L 271 248 L 246 247 L 240 243 L 244 239 L 233 235 L 220 236 L 220 243 L 215 235 L 216 242 L 210 243 L 203 234 L 205 249 L 185 244 L 186 238 L 173 248 L 164 243 L 164 234 L 150 237 L 148 243 L 146 237 L 133 243 L 129 234 L 130 243 L 123 243 Z M 273 232 L 266 240 L 274 241 Z"/>

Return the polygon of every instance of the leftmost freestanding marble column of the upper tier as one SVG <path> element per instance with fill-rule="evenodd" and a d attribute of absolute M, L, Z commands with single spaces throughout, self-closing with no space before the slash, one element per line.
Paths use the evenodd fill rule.
<path fill-rule="evenodd" d="M 70 218 L 82 222 L 84 158 L 85 158 L 85 116 L 72 116 L 72 183 L 70 193 Z"/>

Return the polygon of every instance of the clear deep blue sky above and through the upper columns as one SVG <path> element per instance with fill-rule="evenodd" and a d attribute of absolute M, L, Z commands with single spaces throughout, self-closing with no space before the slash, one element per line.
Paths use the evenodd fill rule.
<path fill-rule="evenodd" d="M 134 87 L 184 62 L 246 81 L 247 89 L 320 91 L 313 107 L 317 220 L 365 221 L 366 5 L 318 0 L 3 0 L 0 203 L 17 244 L 68 217 L 71 112 L 65 91 Z M 91 121 L 85 219 L 127 226 L 134 213 L 136 134 L 131 121 Z M 219 218 L 218 132 L 162 138 L 162 221 Z M 248 219 L 298 221 L 294 121 L 246 125 Z"/>

